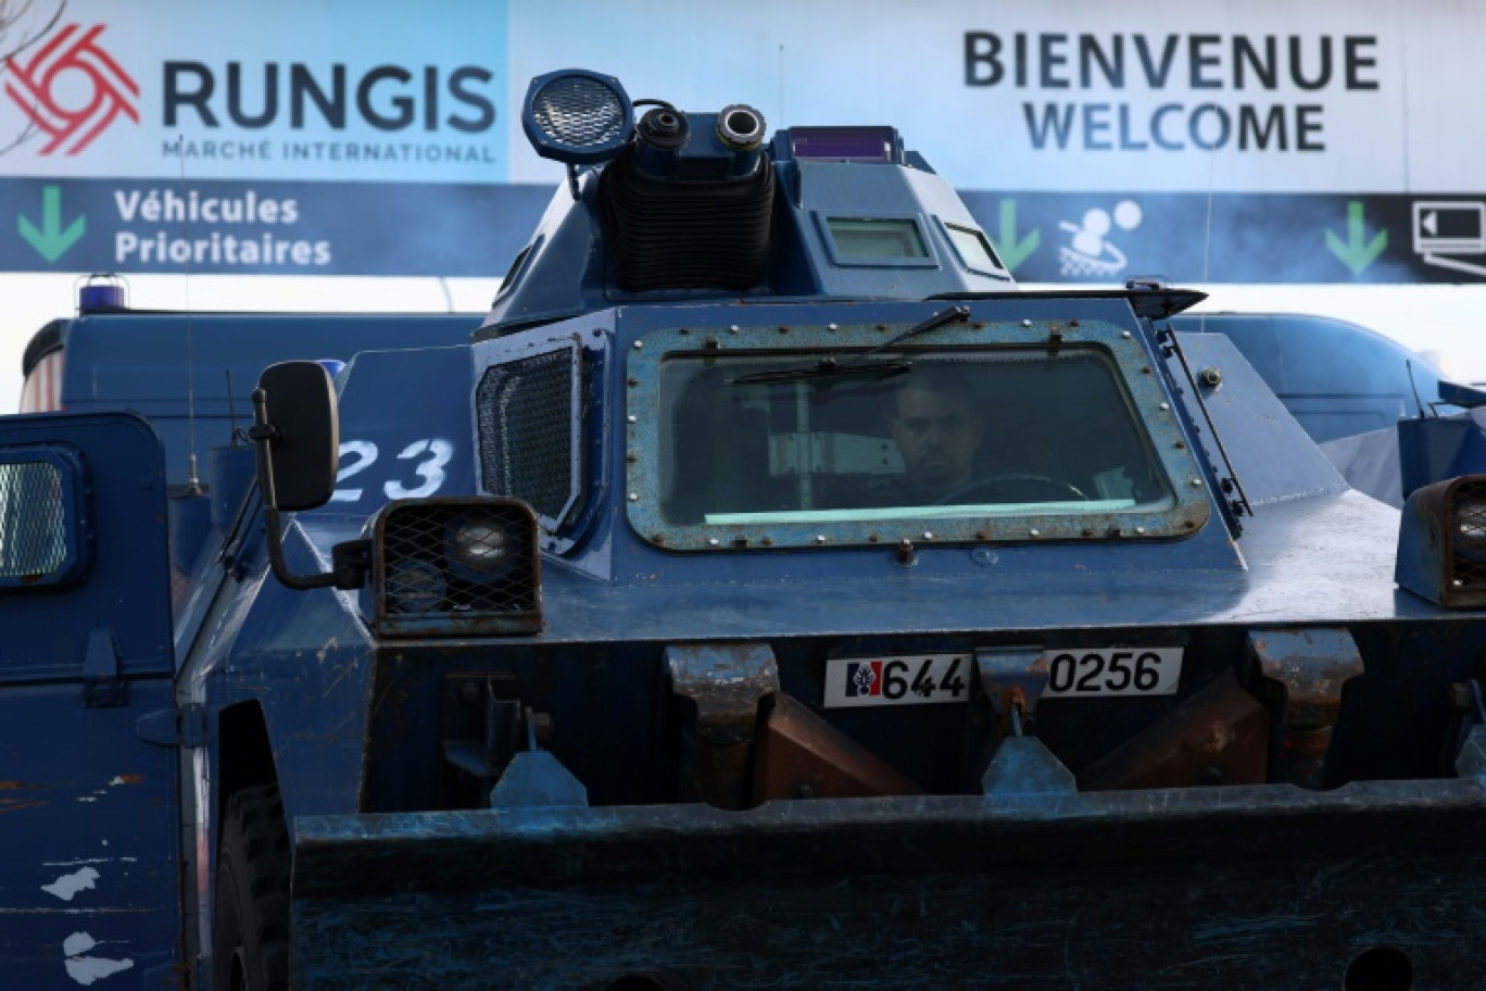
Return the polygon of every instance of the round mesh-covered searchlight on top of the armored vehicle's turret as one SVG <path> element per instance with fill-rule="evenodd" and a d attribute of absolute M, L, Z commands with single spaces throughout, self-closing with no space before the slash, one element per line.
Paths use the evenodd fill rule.
<path fill-rule="evenodd" d="M 565 68 L 532 80 L 522 129 L 542 157 L 594 165 L 630 140 L 635 105 L 612 76 Z"/>

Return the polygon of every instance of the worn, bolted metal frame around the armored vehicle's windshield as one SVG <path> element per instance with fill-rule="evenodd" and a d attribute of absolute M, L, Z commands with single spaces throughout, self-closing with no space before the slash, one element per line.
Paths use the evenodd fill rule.
<path fill-rule="evenodd" d="M 1109 507 L 1091 511 L 1057 511 L 984 516 L 895 513 L 868 519 L 782 519 L 749 520 L 739 514 L 716 519 L 676 522 L 663 510 L 663 420 L 661 370 L 667 361 L 721 361 L 725 357 L 764 358 L 780 364 L 807 364 L 822 355 L 850 360 L 883 334 L 902 333 L 908 324 L 736 327 L 700 336 L 687 328 L 666 328 L 645 334 L 627 354 L 626 377 L 626 508 L 630 524 L 648 542 L 679 551 L 742 548 L 802 548 L 822 545 L 884 545 L 901 541 L 954 542 L 1046 542 L 1089 539 L 1174 539 L 1199 532 L 1211 513 L 1204 469 L 1158 382 L 1152 358 L 1129 328 L 1103 319 L 1068 321 L 1057 330 L 1054 348 L 1062 354 L 1095 354 L 1107 363 L 1114 382 L 1129 404 L 1131 423 L 1143 435 L 1152 465 L 1165 478 L 1169 499 L 1161 507 Z M 997 321 L 944 327 L 930 340 L 915 340 L 893 349 L 893 357 L 947 357 L 961 352 L 987 357 L 997 352 L 1025 355 L 1036 349 L 1049 352 L 1049 325 L 1030 321 Z M 838 516 L 843 514 L 819 514 Z"/>

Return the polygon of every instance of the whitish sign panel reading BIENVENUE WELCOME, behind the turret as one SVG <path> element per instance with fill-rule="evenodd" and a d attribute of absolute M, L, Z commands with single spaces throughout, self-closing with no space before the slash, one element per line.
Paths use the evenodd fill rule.
<path fill-rule="evenodd" d="M 966 86 L 966 33 L 994 33 L 1008 49 L 1018 33 L 1031 48 L 1039 36 L 1065 36 L 1052 51 L 1068 61 L 1051 76 L 1071 85 L 1039 85 L 1034 65 L 1024 88 L 1012 80 Z M 1106 51 L 1112 39 L 1123 39 L 1123 89 L 1100 73 L 1079 86 L 1080 34 Z M 1165 86 L 1152 88 L 1135 42 L 1159 56 L 1168 36 L 1177 36 L 1171 71 Z M 1216 89 L 1190 86 L 1193 36 L 1219 39 L 1198 49 L 1217 59 L 1199 70 L 1202 80 L 1220 80 Z M 1281 73 L 1276 88 L 1265 91 L 1248 71 L 1245 89 L 1236 89 L 1236 36 L 1259 46 L 1274 36 L 1276 53 L 1297 39 L 1303 79 L 1318 77 L 1327 39 L 1330 85 L 1306 91 Z M 1375 64 L 1355 70 L 1376 89 L 1345 88 L 1348 36 L 1375 39 L 1357 52 Z M 960 189 L 1473 193 L 1486 186 L 1486 113 L 1477 108 L 1486 92 L 1486 3 L 1473 0 L 648 0 L 623 7 L 544 0 L 511 4 L 510 37 L 514 100 L 532 76 L 580 65 L 618 76 L 635 98 L 658 97 L 687 110 L 749 103 L 773 126 L 893 123 Z M 1113 126 L 1104 137 L 1116 143 L 1117 104 L 1128 105 L 1132 122 L 1147 123 L 1164 104 L 1190 113 L 1213 103 L 1235 116 L 1241 104 L 1278 104 L 1291 120 L 1296 105 L 1318 104 L 1309 116 L 1321 123 L 1317 140 L 1326 150 L 1205 152 L 1189 141 L 1183 152 L 1039 152 L 1028 138 L 1028 103 L 1110 104 Z M 1184 137 L 1184 114 L 1171 116 L 1165 126 Z M 511 147 L 513 180 L 553 175 L 525 152 L 519 134 Z"/>

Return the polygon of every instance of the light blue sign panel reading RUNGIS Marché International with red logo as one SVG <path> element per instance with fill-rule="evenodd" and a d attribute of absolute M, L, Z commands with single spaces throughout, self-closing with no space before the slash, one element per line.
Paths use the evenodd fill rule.
<path fill-rule="evenodd" d="M 504 4 L 441 6 L 34 0 L 61 18 L 0 73 L 0 135 L 31 132 L 0 172 L 504 181 Z"/>

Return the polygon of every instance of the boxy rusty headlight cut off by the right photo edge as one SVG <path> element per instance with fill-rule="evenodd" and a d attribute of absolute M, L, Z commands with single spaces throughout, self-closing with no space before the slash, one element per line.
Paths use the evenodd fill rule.
<path fill-rule="evenodd" d="M 1409 495 L 1394 579 L 1446 608 L 1486 608 L 1486 475 L 1435 481 Z"/>

